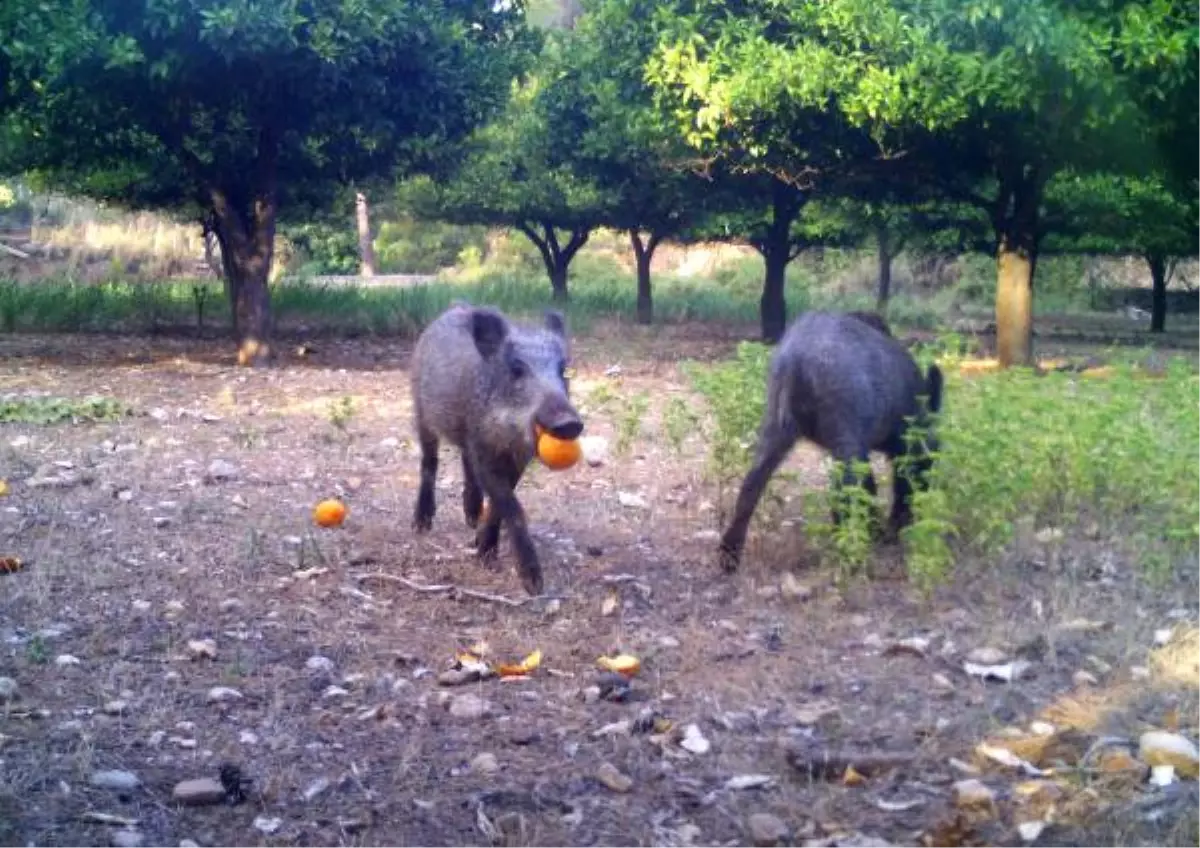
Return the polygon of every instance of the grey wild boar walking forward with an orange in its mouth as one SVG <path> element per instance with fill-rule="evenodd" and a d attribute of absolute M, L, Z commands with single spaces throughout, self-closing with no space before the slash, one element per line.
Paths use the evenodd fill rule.
<path fill-rule="evenodd" d="M 547 312 L 542 326 L 518 326 L 500 312 L 451 305 L 430 324 L 413 351 L 412 380 L 416 437 L 421 446 L 421 486 L 414 527 L 433 525 L 433 485 L 438 444 L 445 439 L 462 455 L 462 509 L 478 528 L 475 546 L 491 560 L 500 522 L 517 555 L 521 584 L 542 590 L 541 565 L 515 489 L 534 458 L 534 425 L 560 439 L 575 439 L 583 422 L 569 399 L 566 326 Z M 484 495 L 491 509 L 479 525 Z"/>

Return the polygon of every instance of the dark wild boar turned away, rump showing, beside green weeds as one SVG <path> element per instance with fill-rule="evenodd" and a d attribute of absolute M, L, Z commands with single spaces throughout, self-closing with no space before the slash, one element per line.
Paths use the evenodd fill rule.
<path fill-rule="evenodd" d="M 737 569 L 758 499 L 800 438 L 846 463 L 842 485 L 854 480 L 850 463 L 866 462 L 871 451 L 886 453 L 893 470 L 890 529 L 896 531 L 912 521 L 913 485 L 928 483 L 932 452 L 937 450 L 931 414 L 942 407 L 942 372 L 931 365 L 923 375 L 887 324 L 877 315 L 864 314 L 875 320 L 854 313 L 805 313 L 775 348 L 754 464 L 738 492 L 733 519 L 721 536 L 725 570 Z M 920 403 L 920 396 L 928 397 L 928 404 Z M 926 431 L 923 444 L 912 449 L 905 441 L 910 416 Z M 910 450 L 913 456 L 908 474 L 898 473 L 896 459 Z M 876 493 L 872 475 L 863 485 Z M 840 521 L 836 510 L 834 521 Z"/>

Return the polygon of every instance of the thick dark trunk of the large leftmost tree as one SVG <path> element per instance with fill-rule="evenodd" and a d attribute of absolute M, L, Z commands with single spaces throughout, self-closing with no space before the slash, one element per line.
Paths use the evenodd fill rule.
<path fill-rule="evenodd" d="M 211 188 L 212 217 L 221 245 L 227 291 L 233 306 L 238 365 L 263 366 L 271 359 L 271 294 L 268 288 L 275 255 L 278 142 L 264 130 L 258 142 L 252 191 Z M 241 198 L 239 203 L 235 198 Z"/>

